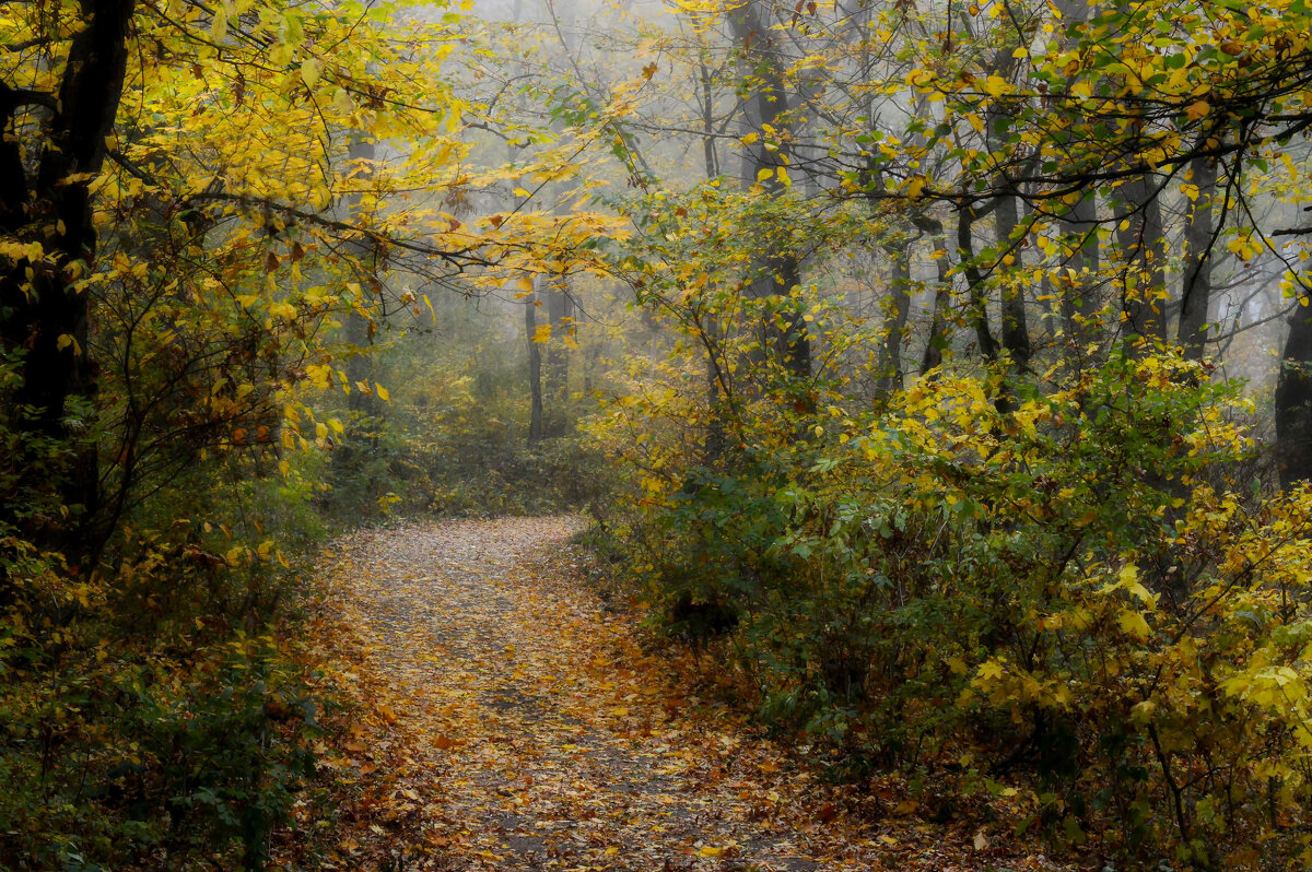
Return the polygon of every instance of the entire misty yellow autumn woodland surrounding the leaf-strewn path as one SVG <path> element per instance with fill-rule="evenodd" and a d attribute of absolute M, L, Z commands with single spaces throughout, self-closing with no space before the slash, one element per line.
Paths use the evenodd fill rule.
<path fill-rule="evenodd" d="M 563 507 L 853 795 L 1312 864 L 1304 0 L 467 12 L 0 10 L 0 865 L 367 831 L 314 543 Z"/>

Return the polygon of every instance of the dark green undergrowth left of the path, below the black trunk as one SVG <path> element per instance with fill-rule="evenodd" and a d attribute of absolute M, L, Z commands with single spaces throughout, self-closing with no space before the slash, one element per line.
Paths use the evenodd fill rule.
<path fill-rule="evenodd" d="M 270 466 L 199 452 L 98 545 L 58 479 L 3 471 L 0 865 L 264 868 L 323 705 L 285 632 L 281 551 L 315 525 Z"/>

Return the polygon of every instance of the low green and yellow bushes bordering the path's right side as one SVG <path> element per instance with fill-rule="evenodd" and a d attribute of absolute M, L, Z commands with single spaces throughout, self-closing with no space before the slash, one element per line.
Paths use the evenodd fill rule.
<path fill-rule="evenodd" d="M 732 606 L 740 688 L 849 761 L 1033 779 L 1033 823 L 1123 856 L 1299 855 L 1312 490 L 1235 479 L 1246 406 L 1191 365 L 1055 382 L 998 404 L 939 372 L 879 414 L 757 418 L 648 481 L 639 568 Z"/>

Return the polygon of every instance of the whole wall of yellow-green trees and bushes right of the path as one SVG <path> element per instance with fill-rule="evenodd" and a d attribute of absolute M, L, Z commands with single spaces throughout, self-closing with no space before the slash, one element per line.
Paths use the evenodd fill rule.
<path fill-rule="evenodd" d="M 681 337 L 597 429 L 653 620 L 854 775 L 1026 791 L 1072 851 L 1307 863 L 1304 361 L 1273 451 L 1190 308 L 1271 257 L 1305 325 L 1252 211 L 1304 186 L 1305 10 L 685 12 L 773 114 L 736 182 L 627 203 L 617 270 Z"/>

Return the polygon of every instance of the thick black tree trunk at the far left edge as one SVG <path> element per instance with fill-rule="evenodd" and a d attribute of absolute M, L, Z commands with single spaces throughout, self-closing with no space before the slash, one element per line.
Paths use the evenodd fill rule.
<path fill-rule="evenodd" d="M 89 299 L 81 285 L 96 254 L 91 185 L 105 161 L 123 93 L 133 12 L 134 0 L 83 1 L 83 29 L 68 46 L 58 98 L 0 83 L 0 232 L 7 240 L 39 244 L 43 252 L 0 258 L 0 342 L 7 355 L 22 357 L 18 384 L 8 397 L 8 424 L 35 452 L 17 459 L 28 476 L 20 488 L 54 488 L 77 519 L 72 528 L 26 531 L 51 547 L 97 547 L 91 531 L 98 506 L 96 452 L 83 435 L 89 422 L 68 414 L 96 392 L 88 358 Z M 43 110 L 31 115 L 29 105 Z M 20 136 L 28 139 L 29 153 L 39 152 L 35 174 L 24 165 Z M 31 448 L 33 441 L 68 450 L 51 455 Z M 31 480 L 33 471 L 39 480 Z M 4 505 L 0 522 L 20 523 L 22 506 Z"/>

